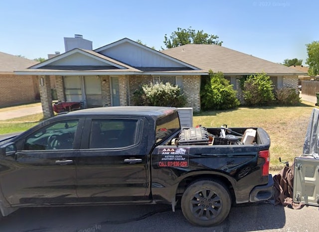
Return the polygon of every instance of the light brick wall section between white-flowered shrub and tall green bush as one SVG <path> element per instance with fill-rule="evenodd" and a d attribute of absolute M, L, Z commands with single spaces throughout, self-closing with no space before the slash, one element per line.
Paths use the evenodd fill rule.
<path fill-rule="evenodd" d="M 187 99 L 185 107 L 192 107 L 194 112 L 200 111 L 200 76 L 183 76 L 183 93 Z"/>

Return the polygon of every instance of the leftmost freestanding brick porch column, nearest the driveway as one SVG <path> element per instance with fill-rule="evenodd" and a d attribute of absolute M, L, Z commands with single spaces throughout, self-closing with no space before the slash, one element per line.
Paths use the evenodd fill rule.
<path fill-rule="evenodd" d="M 39 76 L 39 90 L 44 118 L 53 116 L 50 76 Z"/>

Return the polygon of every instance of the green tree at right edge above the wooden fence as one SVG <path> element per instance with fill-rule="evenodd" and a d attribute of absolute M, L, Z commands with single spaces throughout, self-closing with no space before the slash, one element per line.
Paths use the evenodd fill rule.
<path fill-rule="evenodd" d="M 308 58 L 306 64 L 309 65 L 308 74 L 310 76 L 319 75 L 319 41 L 313 41 L 312 43 L 306 44 Z"/>

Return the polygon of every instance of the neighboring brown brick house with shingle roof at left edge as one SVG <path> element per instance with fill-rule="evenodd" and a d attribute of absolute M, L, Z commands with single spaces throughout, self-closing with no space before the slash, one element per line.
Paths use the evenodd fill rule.
<path fill-rule="evenodd" d="M 25 69 L 38 62 L 0 52 L 0 107 L 39 100 L 39 85 L 35 75 L 19 76 L 14 70 Z"/>

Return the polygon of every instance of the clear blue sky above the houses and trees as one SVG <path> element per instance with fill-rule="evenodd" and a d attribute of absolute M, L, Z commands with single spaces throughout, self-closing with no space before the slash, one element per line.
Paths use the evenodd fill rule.
<path fill-rule="evenodd" d="M 64 37 L 83 35 L 93 49 L 123 38 L 157 50 L 164 35 L 191 26 L 222 46 L 275 63 L 298 58 L 319 40 L 314 0 L 1 0 L 0 52 L 28 59 L 65 52 Z"/>

